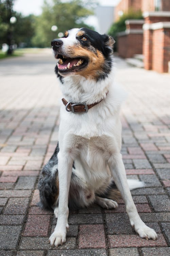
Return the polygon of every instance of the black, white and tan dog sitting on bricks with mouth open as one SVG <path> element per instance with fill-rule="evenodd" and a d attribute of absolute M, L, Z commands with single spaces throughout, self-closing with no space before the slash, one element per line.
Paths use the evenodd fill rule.
<path fill-rule="evenodd" d="M 69 208 L 102 208 L 125 203 L 130 223 L 141 238 L 157 239 L 140 219 L 130 189 L 143 187 L 126 179 L 121 150 L 120 106 L 124 93 L 115 84 L 112 37 L 86 28 L 71 29 L 51 42 L 58 59 L 55 73 L 62 99 L 59 141 L 38 184 L 41 208 L 57 217 L 49 238 L 66 242 Z"/>

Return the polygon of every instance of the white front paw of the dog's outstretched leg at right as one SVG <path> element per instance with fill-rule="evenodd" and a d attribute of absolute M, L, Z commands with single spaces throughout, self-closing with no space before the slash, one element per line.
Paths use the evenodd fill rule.
<path fill-rule="evenodd" d="M 147 225 L 145 225 L 145 223 L 142 223 L 142 225 L 137 225 L 133 227 L 141 238 L 145 238 L 147 240 L 149 239 L 156 240 L 158 237 L 155 230 L 152 228 L 149 228 Z"/>

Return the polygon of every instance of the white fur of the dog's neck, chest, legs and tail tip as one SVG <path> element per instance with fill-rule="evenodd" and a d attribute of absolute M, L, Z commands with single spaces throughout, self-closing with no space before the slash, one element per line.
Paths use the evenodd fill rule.
<path fill-rule="evenodd" d="M 73 30 L 73 34 L 75 32 Z M 67 41 L 67 39 L 63 40 Z M 155 231 L 141 221 L 129 189 L 129 186 L 131 189 L 142 187 L 143 183 L 126 180 L 120 154 L 121 122 L 119 118 L 120 105 L 125 95 L 113 81 L 113 70 L 108 78 L 99 82 L 79 75 L 65 77 L 63 81 L 61 90 L 67 101 L 91 104 L 104 100 L 89 109 L 88 113 L 83 114 L 67 112 L 65 106 L 61 106 L 58 153 L 60 194 L 57 225 L 50 237 L 51 245 L 58 246 L 66 241 L 68 192 L 73 161 L 75 165 L 73 171 L 94 196 L 112 175 L 125 202 L 131 225 L 140 237 L 155 240 L 157 238 Z M 108 92 L 107 96 L 106 92 Z M 108 173 L 108 167 L 110 173 Z M 96 201 L 107 208 L 117 206 L 116 202 L 109 199 L 96 198 Z"/>

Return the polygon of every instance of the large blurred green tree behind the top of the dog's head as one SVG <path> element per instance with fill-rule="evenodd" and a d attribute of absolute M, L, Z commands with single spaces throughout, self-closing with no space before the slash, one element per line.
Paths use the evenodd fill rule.
<path fill-rule="evenodd" d="M 59 32 L 65 32 L 71 28 L 93 28 L 84 23 L 84 18 L 93 14 L 94 5 L 95 1 L 87 0 L 53 0 L 52 4 L 44 1 L 43 12 L 35 21 L 36 32 L 32 43 L 38 47 L 48 47 Z M 51 31 L 53 25 L 58 28 L 55 32 Z"/>

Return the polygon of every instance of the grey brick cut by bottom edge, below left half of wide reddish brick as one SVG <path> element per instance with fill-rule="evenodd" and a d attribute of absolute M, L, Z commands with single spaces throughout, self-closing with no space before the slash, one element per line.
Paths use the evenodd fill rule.
<path fill-rule="evenodd" d="M 109 249 L 110 256 L 139 256 L 137 248 Z"/>

